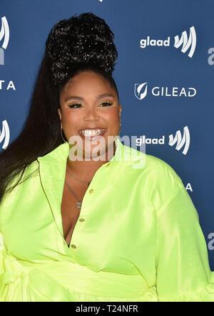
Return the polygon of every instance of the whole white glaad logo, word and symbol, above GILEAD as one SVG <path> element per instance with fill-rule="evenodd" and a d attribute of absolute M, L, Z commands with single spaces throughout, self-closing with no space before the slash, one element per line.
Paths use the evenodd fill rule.
<path fill-rule="evenodd" d="M 174 47 L 179 48 L 182 44 L 182 53 L 185 53 L 186 51 L 188 51 L 188 48 L 190 48 L 188 56 L 192 58 L 196 47 L 196 33 L 194 26 L 190 27 L 189 38 L 186 31 L 183 31 L 180 38 L 178 37 L 178 35 L 174 36 Z M 146 48 L 146 46 L 170 46 L 170 36 L 168 36 L 168 38 L 165 39 L 165 41 L 160 39 L 151 39 L 150 36 L 147 36 L 147 38 L 143 38 L 140 41 L 141 48 Z"/>

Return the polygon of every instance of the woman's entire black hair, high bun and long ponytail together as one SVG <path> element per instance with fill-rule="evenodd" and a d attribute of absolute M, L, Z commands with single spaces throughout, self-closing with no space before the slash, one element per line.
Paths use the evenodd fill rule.
<path fill-rule="evenodd" d="M 0 203 L 21 183 L 32 162 L 63 143 L 59 93 L 73 75 L 84 70 L 98 73 L 118 94 L 112 77 L 118 57 L 113 37 L 106 22 L 91 12 L 58 21 L 51 28 L 24 127 L 0 153 Z"/>

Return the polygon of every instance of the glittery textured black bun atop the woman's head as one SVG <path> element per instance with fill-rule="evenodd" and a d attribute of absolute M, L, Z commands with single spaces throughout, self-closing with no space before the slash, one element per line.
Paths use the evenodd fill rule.
<path fill-rule="evenodd" d="M 118 58 L 113 32 L 106 22 L 92 13 L 72 16 L 51 28 L 46 52 L 56 85 L 77 65 L 95 65 L 112 75 Z"/>

